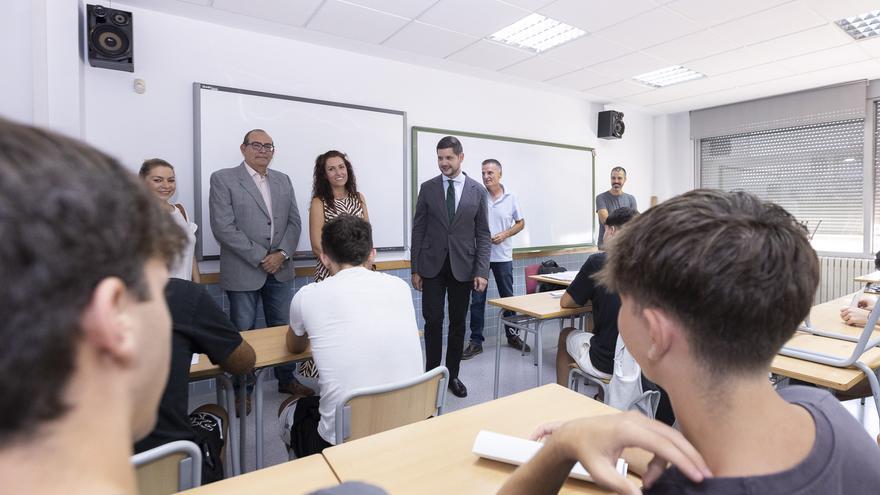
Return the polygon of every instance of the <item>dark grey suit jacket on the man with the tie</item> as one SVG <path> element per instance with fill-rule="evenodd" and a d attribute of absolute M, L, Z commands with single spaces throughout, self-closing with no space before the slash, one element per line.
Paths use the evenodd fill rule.
<path fill-rule="evenodd" d="M 492 241 L 487 212 L 486 190 L 477 181 L 466 177 L 450 224 L 443 176 L 425 181 L 419 189 L 413 218 L 412 272 L 422 277 L 436 277 L 448 254 L 456 280 L 488 279 Z"/>

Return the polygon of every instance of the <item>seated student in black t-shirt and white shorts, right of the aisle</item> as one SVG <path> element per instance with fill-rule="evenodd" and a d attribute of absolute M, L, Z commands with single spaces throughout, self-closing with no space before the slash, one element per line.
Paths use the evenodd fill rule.
<path fill-rule="evenodd" d="M 638 212 L 632 208 L 618 208 L 605 220 L 605 241 L 609 242 L 620 232 L 623 224 L 630 221 Z M 593 280 L 599 273 L 608 255 L 596 253 L 581 267 L 577 276 L 568 286 L 559 305 L 563 308 L 579 308 L 588 302 L 593 303 L 593 332 L 576 328 L 566 328 L 559 333 L 556 350 L 556 383 L 568 386 L 568 372 L 571 363 L 587 373 L 599 378 L 611 378 L 614 371 L 614 346 L 617 344 L 617 312 L 620 310 L 620 297 L 609 292 Z M 601 394 L 601 390 L 599 393 Z M 600 398 L 601 400 L 601 398 Z"/>

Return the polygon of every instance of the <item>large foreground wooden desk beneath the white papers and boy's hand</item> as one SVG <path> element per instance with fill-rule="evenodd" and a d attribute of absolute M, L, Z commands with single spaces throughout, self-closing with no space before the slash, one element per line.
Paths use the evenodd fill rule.
<path fill-rule="evenodd" d="M 471 452 L 480 430 L 528 438 L 538 425 L 549 421 L 613 412 L 605 404 L 549 384 L 330 447 L 324 457 L 340 481 L 366 481 L 391 495 L 495 493 L 515 466 Z M 635 457 L 635 463 L 642 465 L 650 459 L 643 451 Z M 569 479 L 559 493 L 609 492 Z"/>

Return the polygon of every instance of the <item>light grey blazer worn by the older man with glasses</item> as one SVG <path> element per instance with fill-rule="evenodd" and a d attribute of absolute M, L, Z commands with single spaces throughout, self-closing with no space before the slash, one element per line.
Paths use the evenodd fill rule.
<path fill-rule="evenodd" d="M 293 184 L 290 177 L 272 169 L 268 179 L 273 222 L 244 162 L 211 174 L 211 230 L 220 243 L 220 286 L 225 290 L 259 289 L 266 282 L 260 261 L 279 249 L 290 256 L 296 250 L 302 221 Z M 271 246 L 270 225 L 275 229 Z M 275 278 L 281 282 L 291 280 L 293 263 L 285 261 Z"/>

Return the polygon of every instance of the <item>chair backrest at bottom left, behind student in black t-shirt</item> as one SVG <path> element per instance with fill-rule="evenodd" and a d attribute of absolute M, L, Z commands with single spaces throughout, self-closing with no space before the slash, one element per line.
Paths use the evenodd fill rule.
<path fill-rule="evenodd" d="M 131 456 L 140 495 L 169 495 L 202 484 L 202 451 L 177 440 Z"/>

